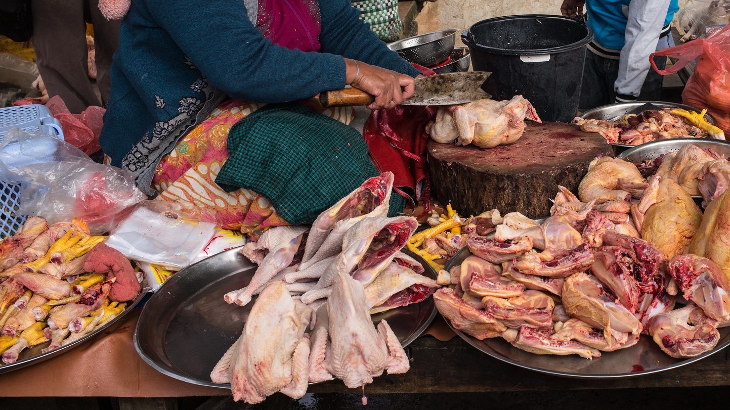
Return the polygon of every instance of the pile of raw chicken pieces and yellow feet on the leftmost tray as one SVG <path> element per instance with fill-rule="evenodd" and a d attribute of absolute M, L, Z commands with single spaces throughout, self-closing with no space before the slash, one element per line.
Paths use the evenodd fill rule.
<path fill-rule="evenodd" d="M 0 352 L 71 344 L 120 314 L 142 290 L 131 263 L 91 236 L 83 220 L 28 217 L 0 243 Z M 50 342 L 50 343 L 49 343 Z"/>

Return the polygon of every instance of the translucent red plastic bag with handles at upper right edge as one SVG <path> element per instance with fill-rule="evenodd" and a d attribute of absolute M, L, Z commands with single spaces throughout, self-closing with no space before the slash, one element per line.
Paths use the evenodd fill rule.
<path fill-rule="evenodd" d="M 655 55 L 677 58 L 669 69 L 658 70 Z M 730 133 L 730 25 L 707 39 L 696 39 L 683 45 L 653 53 L 651 65 L 659 74 L 672 74 L 699 57 L 682 93 L 684 104 L 707 108 L 715 118 L 715 125 Z"/>

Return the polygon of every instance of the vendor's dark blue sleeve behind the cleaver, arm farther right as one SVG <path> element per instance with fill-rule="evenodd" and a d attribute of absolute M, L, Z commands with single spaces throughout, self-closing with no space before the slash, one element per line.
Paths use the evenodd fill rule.
<path fill-rule="evenodd" d="M 360 12 L 350 0 L 323 0 L 319 4 L 322 14 L 320 44 L 323 51 L 355 58 L 411 77 L 420 74 L 378 39 L 367 23 L 358 18 Z"/>

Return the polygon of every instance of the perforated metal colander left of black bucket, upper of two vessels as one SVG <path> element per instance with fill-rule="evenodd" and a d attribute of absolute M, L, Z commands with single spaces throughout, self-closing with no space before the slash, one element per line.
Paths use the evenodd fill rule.
<path fill-rule="evenodd" d="M 408 37 L 388 44 L 388 48 L 398 53 L 409 63 L 424 67 L 435 66 L 445 61 L 454 49 L 456 28 L 433 31 Z"/>

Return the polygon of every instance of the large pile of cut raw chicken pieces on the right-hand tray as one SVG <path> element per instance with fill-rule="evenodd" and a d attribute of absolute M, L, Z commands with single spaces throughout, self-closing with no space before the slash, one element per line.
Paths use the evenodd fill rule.
<path fill-rule="evenodd" d="M 507 214 L 469 238 L 473 255 L 439 272 L 439 312 L 537 354 L 599 357 L 641 333 L 672 357 L 713 349 L 730 325 L 728 194 L 703 215 L 673 179 L 615 158 L 593 160 L 578 191 L 561 187 L 542 223 Z"/>

